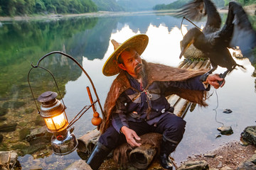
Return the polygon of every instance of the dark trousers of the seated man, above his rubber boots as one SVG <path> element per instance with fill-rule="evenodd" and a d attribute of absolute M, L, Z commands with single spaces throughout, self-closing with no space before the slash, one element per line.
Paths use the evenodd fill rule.
<path fill-rule="evenodd" d="M 139 136 L 147 132 L 158 132 L 163 134 L 166 140 L 177 145 L 182 140 L 185 126 L 186 121 L 172 113 L 161 118 L 156 126 L 149 125 L 146 122 L 129 122 L 129 128 L 134 130 Z M 106 132 L 100 136 L 99 142 L 109 149 L 114 149 L 118 145 L 126 142 L 126 138 L 124 134 L 117 132 L 117 130 L 110 125 Z"/>

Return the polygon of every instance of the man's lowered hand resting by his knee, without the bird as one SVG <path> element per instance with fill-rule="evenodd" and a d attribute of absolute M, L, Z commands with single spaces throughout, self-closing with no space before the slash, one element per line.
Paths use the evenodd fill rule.
<path fill-rule="evenodd" d="M 122 133 L 124 133 L 127 143 L 129 143 L 129 145 L 131 145 L 132 147 L 140 147 L 142 145 L 141 143 L 136 142 L 136 140 L 141 140 L 141 139 L 134 130 L 129 129 L 126 126 L 123 126 L 121 130 L 122 130 Z"/>

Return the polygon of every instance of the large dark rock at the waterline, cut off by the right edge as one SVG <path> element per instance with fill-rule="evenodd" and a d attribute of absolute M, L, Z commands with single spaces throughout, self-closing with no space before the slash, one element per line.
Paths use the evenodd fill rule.
<path fill-rule="evenodd" d="M 248 126 L 241 133 L 241 139 L 251 145 L 256 145 L 256 126 Z"/>

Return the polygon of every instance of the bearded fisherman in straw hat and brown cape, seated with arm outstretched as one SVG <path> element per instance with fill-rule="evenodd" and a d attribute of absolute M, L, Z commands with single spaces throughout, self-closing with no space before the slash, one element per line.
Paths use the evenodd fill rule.
<path fill-rule="evenodd" d="M 148 41 L 147 35 L 143 34 L 122 44 L 112 40 L 114 52 L 105 62 L 102 72 L 105 76 L 118 76 L 105 101 L 107 118 L 100 127 L 102 135 L 87 159 L 87 164 L 94 170 L 118 145 L 127 142 L 131 147 L 141 146 L 139 136 L 148 132 L 163 135 L 160 164 L 164 169 L 172 169 L 169 154 L 181 142 L 186 121 L 174 115 L 174 108 L 166 96 L 177 94 L 207 106 L 204 101 L 206 91 L 210 85 L 218 89 L 218 81 L 223 81 L 218 74 L 210 74 L 206 81 L 201 82 L 205 69 L 192 71 L 142 60 Z"/>

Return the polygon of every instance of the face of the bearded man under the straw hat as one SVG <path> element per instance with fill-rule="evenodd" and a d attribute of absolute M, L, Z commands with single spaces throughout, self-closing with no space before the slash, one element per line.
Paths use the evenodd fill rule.
<path fill-rule="evenodd" d="M 118 64 L 121 69 L 127 71 L 132 77 L 138 79 L 142 69 L 142 58 L 134 49 L 123 51 L 119 56 L 122 58 L 124 64 Z"/>

